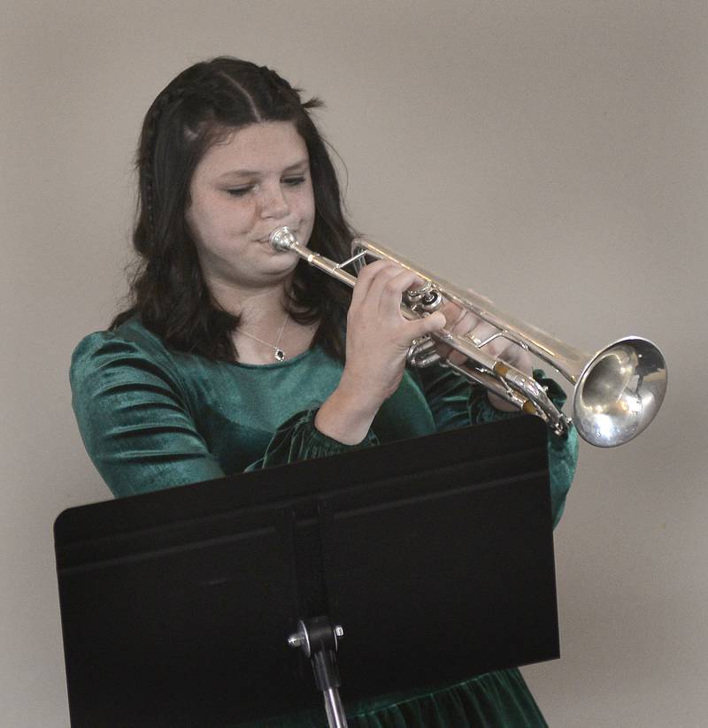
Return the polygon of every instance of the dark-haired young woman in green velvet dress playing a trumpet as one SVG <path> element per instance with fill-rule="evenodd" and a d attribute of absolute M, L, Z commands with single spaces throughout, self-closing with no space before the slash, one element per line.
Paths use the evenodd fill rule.
<path fill-rule="evenodd" d="M 81 341 L 71 370 L 81 436 L 116 496 L 510 416 L 450 370 L 405 367 L 413 339 L 443 326 L 483 338 L 488 325 L 452 304 L 405 320 L 401 295 L 416 281 L 396 264 L 367 265 L 351 293 L 270 246 L 289 226 L 302 245 L 348 257 L 354 234 L 310 117 L 319 105 L 229 57 L 189 67 L 152 103 L 137 157 L 132 305 Z M 495 353 L 530 372 L 523 350 Z M 549 435 L 549 455 L 558 522 L 575 433 Z M 390 696 L 350 721 L 545 724 L 517 670 Z"/>

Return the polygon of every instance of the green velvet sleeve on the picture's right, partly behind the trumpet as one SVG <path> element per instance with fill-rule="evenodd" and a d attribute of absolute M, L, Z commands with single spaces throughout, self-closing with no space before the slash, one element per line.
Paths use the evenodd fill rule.
<path fill-rule="evenodd" d="M 519 417 L 518 411 L 496 410 L 489 402 L 484 387 L 471 384 L 450 369 L 431 366 L 417 370 L 417 374 L 438 431 Z M 547 379 L 539 369 L 534 370 L 534 379 L 543 387 L 548 387 L 548 395 L 556 407 L 565 404 L 566 393 L 557 382 Z M 560 437 L 549 430 L 548 464 L 554 528 L 566 507 L 566 496 L 573 482 L 577 462 L 578 435 L 575 428 L 571 426 L 568 433 Z"/>

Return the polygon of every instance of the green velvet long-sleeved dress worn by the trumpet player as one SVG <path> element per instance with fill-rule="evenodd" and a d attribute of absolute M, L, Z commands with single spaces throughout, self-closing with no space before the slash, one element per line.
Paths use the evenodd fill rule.
<path fill-rule="evenodd" d="M 71 384 L 84 444 L 117 497 L 514 416 L 495 410 L 485 390 L 443 367 L 406 371 L 366 439 L 352 448 L 313 425 L 341 375 L 342 364 L 319 348 L 274 364 L 212 362 L 168 349 L 133 319 L 81 341 Z M 543 384 L 551 399 L 562 401 L 558 385 Z M 577 460 L 574 431 L 549 435 L 548 447 L 555 525 Z M 546 725 L 516 669 L 346 708 L 354 728 Z M 268 725 L 324 724 L 322 711 Z"/>

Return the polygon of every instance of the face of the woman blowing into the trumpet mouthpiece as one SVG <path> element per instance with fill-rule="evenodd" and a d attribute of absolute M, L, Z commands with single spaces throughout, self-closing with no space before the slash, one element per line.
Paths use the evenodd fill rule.
<path fill-rule="evenodd" d="M 273 250 L 268 235 L 287 225 L 304 246 L 314 216 L 307 147 L 286 121 L 244 126 L 208 149 L 185 213 L 210 287 L 252 292 L 287 280 L 298 261 Z"/>

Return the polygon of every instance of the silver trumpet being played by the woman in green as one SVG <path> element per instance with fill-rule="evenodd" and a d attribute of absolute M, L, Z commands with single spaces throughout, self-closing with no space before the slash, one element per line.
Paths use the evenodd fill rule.
<path fill-rule="evenodd" d="M 355 238 L 351 243 L 351 257 L 337 263 L 301 246 L 289 227 L 277 227 L 269 241 L 273 249 L 293 251 L 308 264 L 350 287 L 354 287 L 357 278 L 344 268 L 352 266 L 358 272 L 371 260 L 390 260 L 414 272 L 421 285 L 407 291 L 401 301 L 401 313 L 409 320 L 427 316 L 450 301 L 487 321 L 496 333 L 486 341 L 445 329 L 413 341 L 408 351 L 409 364 L 425 367 L 439 363 L 450 367 L 519 410 L 542 418 L 558 435 L 567 433 L 572 424 L 591 445 L 600 448 L 623 445 L 650 425 L 664 400 L 666 360 L 648 339 L 626 336 L 589 355 L 497 309 L 484 296 L 440 279 L 378 243 Z M 558 410 L 545 388 L 526 372 L 492 356 L 489 349 L 485 351 L 499 337 L 550 364 L 573 385 L 570 416 Z M 466 356 L 466 361 L 450 362 L 437 352 L 439 343 L 459 351 Z"/>

